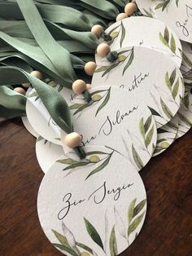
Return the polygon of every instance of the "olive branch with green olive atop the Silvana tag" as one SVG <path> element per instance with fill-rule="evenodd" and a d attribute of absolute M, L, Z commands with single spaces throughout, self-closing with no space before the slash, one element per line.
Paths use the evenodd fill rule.
<path fill-rule="evenodd" d="M 104 95 L 103 95 L 104 93 Z M 110 99 L 110 93 L 111 88 L 108 90 L 96 90 L 93 93 L 91 93 L 92 101 L 85 104 L 72 104 L 69 108 L 71 110 L 76 110 L 75 113 L 73 113 L 73 116 L 75 116 L 77 113 L 81 113 L 85 108 L 89 108 L 93 104 L 98 104 L 103 99 L 103 103 L 99 106 L 98 110 L 95 113 L 95 117 L 98 115 L 98 113 L 107 105 L 109 99 Z"/>

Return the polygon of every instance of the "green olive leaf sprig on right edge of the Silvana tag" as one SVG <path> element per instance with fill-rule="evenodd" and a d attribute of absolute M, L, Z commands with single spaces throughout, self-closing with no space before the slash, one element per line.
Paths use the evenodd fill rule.
<path fill-rule="evenodd" d="M 148 117 L 145 122 L 144 122 L 144 118 L 142 117 L 142 119 L 139 122 L 139 130 L 145 141 L 146 148 L 148 148 L 149 145 L 151 144 L 151 141 L 154 135 L 155 127 L 154 126 L 151 127 L 151 123 L 152 123 L 152 115 Z"/>

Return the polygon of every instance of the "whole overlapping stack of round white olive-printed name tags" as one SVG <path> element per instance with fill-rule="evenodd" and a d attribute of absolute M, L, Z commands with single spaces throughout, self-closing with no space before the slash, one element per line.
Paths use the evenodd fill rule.
<path fill-rule="evenodd" d="M 28 90 L 24 126 L 37 136 L 46 174 L 38 215 L 50 242 L 66 255 L 114 256 L 133 243 L 146 217 L 139 171 L 192 124 L 191 1 L 137 5 L 148 17 L 120 20 L 105 31 L 116 60 L 95 55 L 92 101 L 52 83 L 70 106 L 85 159 L 66 147 L 66 134 L 36 90 Z"/>

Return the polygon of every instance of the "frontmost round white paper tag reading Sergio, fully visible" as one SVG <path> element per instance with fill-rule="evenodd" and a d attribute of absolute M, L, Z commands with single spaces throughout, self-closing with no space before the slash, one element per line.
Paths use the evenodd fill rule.
<path fill-rule="evenodd" d="M 81 162 L 59 158 L 44 176 L 37 199 L 41 227 L 65 255 L 118 255 L 142 229 L 146 191 L 118 152 L 103 147 L 85 152 Z"/>

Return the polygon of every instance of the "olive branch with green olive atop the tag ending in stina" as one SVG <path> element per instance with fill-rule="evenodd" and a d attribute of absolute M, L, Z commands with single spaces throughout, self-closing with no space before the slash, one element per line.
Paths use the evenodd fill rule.
<path fill-rule="evenodd" d="M 123 55 L 124 53 L 129 52 L 129 55 Z M 95 73 L 103 73 L 102 77 L 105 77 L 108 73 L 111 72 L 111 70 L 113 70 L 114 68 L 118 67 L 120 64 L 123 64 L 125 62 L 125 60 L 128 60 L 127 64 L 124 67 L 123 73 L 122 75 L 124 75 L 125 71 L 129 68 L 129 66 L 133 63 L 133 59 L 134 59 L 134 47 L 132 49 L 130 49 L 129 51 L 120 51 L 118 53 L 118 58 L 116 60 L 115 63 L 112 63 L 111 65 L 107 65 L 107 66 L 102 66 L 100 68 L 98 68 Z"/>

